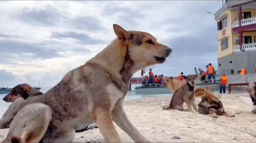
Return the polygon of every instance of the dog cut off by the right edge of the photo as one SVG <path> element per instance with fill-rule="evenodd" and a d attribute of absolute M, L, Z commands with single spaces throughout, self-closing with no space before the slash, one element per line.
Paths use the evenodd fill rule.
<path fill-rule="evenodd" d="M 249 93 L 249 96 L 251 97 L 252 105 L 254 106 L 254 108 L 252 109 L 251 112 L 248 112 L 248 111 L 238 111 L 238 112 L 235 112 L 235 114 L 241 114 L 241 113 L 256 114 L 256 86 L 245 88 L 245 91 L 247 91 Z"/>

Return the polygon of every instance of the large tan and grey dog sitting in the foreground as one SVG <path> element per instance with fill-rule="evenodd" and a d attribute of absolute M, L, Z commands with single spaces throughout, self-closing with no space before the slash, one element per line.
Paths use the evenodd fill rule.
<path fill-rule="evenodd" d="M 147 32 L 126 31 L 116 24 L 113 27 L 118 38 L 24 106 L 11 122 L 4 141 L 72 142 L 74 125 L 97 123 L 107 142 L 121 142 L 114 120 L 133 141 L 150 142 L 127 118 L 124 97 L 133 74 L 149 65 L 162 64 L 172 49 Z"/>

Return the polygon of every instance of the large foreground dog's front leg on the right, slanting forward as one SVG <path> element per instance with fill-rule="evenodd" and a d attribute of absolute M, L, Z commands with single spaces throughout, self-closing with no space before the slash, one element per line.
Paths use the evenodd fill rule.
<path fill-rule="evenodd" d="M 141 133 L 136 129 L 135 126 L 127 118 L 126 113 L 124 112 L 123 106 L 115 106 L 115 109 L 112 111 L 112 117 L 114 122 L 124 131 L 130 138 L 135 142 L 152 142 L 149 139 L 141 135 Z"/>

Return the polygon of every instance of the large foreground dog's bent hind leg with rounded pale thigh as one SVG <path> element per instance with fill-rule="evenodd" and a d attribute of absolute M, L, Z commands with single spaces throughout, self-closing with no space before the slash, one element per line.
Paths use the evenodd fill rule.
<path fill-rule="evenodd" d="M 7 134 L 8 141 L 39 142 L 52 118 L 51 109 L 42 103 L 26 105 L 14 117 Z"/>

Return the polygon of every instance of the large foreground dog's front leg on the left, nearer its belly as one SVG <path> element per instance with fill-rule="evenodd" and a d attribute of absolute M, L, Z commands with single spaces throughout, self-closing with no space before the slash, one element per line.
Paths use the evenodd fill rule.
<path fill-rule="evenodd" d="M 100 129 L 101 134 L 107 142 L 121 142 L 120 136 L 112 121 L 109 107 L 96 108 L 92 112 L 92 118 L 96 121 L 98 129 Z"/>

